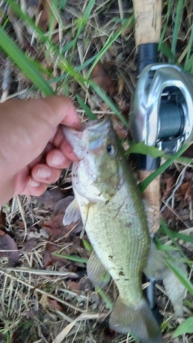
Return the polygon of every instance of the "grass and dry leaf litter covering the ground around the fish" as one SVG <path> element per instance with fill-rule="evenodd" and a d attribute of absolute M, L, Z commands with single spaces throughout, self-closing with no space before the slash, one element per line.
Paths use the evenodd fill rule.
<path fill-rule="evenodd" d="M 161 61 L 179 64 L 190 73 L 192 13 L 190 0 L 163 1 L 159 43 Z M 118 118 L 116 125 L 124 137 L 137 81 L 132 1 L 2 0 L 0 20 L 2 102 L 64 94 L 71 97 L 82 121 L 106 114 Z M 128 144 L 124 138 L 124 147 Z M 141 190 L 161 174 L 157 246 L 165 252 L 179 251 L 188 270 L 185 277 L 168 257 L 168 265 L 187 289 L 183 318 L 175 316 L 162 283 L 157 283 L 166 343 L 193 339 L 192 147 L 186 154 L 185 149 L 171 157 L 132 143 L 126 152 L 161 154 L 165 163 Z M 87 236 L 80 241 L 81 227 L 61 224 L 70 187 L 67 170 L 46 196 L 19 197 L 1 211 L 3 232 L 16 241 L 12 250 L 20 251 L 20 265 L 15 268 L 0 252 L 1 342 L 135 342 L 108 328 L 106 316 L 117 290 L 112 282 L 102 290 L 93 289 L 87 279 L 85 263 L 91 252 Z M 62 206 L 56 211 L 59 201 Z"/>

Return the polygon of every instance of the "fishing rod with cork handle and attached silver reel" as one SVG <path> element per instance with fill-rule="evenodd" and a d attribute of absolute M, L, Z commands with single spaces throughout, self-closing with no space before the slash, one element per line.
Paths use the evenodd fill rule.
<path fill-rule="evenodd" d="M 130 133 L 137 143 L 174 154 L 193 140 L 193 76 L 176 65 L 158 63 L 161 0 L 133 0 L 133 6 L 139 80 L 130 110 Z M 141 181 L 160 164 L 159 158 L 143 154 L 137 154 L 136 161 Z M 143 194 L 152 237 L 159 229 L 159 181 L 155 178 Z M 160 322 L 153 282 L 147 297 Z"/>

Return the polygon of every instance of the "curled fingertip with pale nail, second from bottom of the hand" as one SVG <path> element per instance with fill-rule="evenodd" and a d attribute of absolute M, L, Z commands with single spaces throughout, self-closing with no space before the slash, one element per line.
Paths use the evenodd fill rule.
<path fill-rule="evenodd" d="M 37 182 L 56 182 L 61 174 L 61 169 L 49 167 L 47 164 L 39 163 L 32 168 L 32 178 Z"/>

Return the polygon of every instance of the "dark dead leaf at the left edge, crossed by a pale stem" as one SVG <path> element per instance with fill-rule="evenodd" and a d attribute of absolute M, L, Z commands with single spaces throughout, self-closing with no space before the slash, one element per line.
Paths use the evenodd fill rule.
<path fill-rule="evenodd" d="M 0 257 L 8 257 L 8 267 L 16 267 L 19 265 L 19 250 L 16 242 L 10 235 L 0 235 Z"/>

